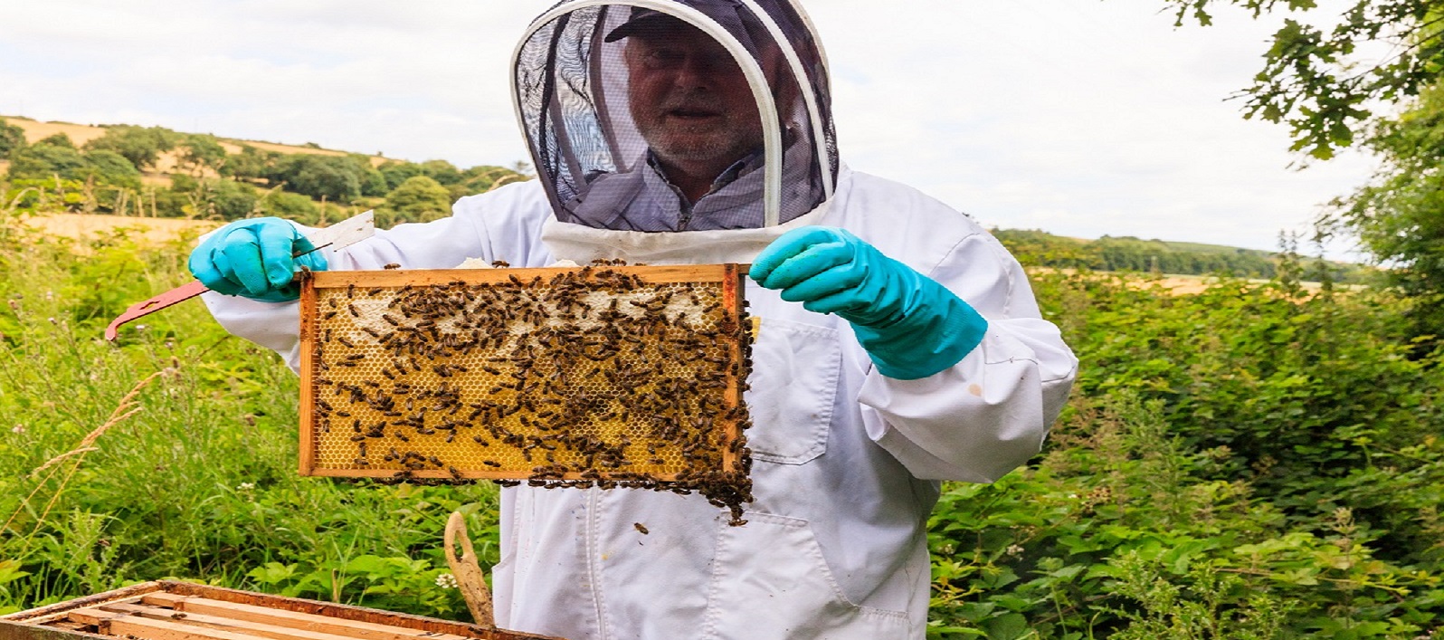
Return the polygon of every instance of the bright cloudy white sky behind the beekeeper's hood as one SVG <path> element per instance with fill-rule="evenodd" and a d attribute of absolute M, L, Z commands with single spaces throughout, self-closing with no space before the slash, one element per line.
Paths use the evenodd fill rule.
<path fill-rule="evenodd" d="M 1174 27 L 1162 0 L 803 3 L 843 162 L 986 227 L 1272 250 L 1373 172 L 1353 152 L 1300 169 L 1287 126 L 1226 100 L 1279 17 Z M 529 159 L 510 56 L 550 4 L 0 0 L 0 116 L 510 166 Z"/>

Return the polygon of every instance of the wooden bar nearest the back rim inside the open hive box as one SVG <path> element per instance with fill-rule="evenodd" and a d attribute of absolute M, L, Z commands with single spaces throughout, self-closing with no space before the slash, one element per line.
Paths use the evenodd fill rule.
<path fill-rule="evenodd" d="M 417 637 L 426 637 L 429 640 L 464 639 L 464 636 L 425 631 L 420 628 L 394 627 L 390 624 L 367 623 L 361 620 L 342 620 L 329 615 L 282 611 L 251 604 L 225 602 L 219 600 L 193 598 L 175 594 L 149 594 L 143 602 L 156 607 L 169 607 L 186 614 L 219 615 L 248 623 L 273 624 L 277 627 L 349 636 L 365 640 L 414 640 Z"/>

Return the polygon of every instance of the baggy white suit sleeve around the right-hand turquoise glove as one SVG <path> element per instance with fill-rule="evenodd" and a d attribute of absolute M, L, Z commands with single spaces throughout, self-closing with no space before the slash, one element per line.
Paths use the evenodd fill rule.
<path fill-rule="evenodd" d="M 926 379 L 871 370 L 858 396 L 864 425 L 918 478 L 991 483 L 1041 449 L 1077 358 L 992 235 L 965 237 L 927 274 L 978 309 L 988 332 L 962 361 Z"/>

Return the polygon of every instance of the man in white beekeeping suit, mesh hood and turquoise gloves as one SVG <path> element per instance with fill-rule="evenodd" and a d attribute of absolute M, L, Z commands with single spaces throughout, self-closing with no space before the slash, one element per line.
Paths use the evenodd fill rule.
<path fill-rule="evenodd" d="M 514 74 L 539 179 L 329 264 L 290 259 L 303 228 L 232 222 L 191 259 L 212 313 L 296 367 L 296 263 L 751 263 L 747 524 L 699 496 L 504 488 L 497 623 L 923 639 L 939 481 L 989 483 L 1038 452 L 1074 376 L 1022 269 L 967 217 L 839 162 L 826 58 L 790 0 L 562 3 Z"/>

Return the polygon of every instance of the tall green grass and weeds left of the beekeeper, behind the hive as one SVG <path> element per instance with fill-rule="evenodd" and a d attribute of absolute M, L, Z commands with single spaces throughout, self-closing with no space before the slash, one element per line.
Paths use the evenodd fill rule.
<path fill-rule="evenodd" d="M 186 282 L 192 240 L 0 220 L 0 611 L 169 576 L 465 615 L 436 582 L 442 530 L 461 509 L 494 537 L 491 485 L 297 477 L 296 377 L 199 300 L 103 340 L 127 305 Z"/>

